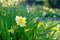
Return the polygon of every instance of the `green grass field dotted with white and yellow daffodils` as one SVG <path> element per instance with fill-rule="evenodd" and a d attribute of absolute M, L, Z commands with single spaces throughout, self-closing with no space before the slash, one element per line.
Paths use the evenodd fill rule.
<path fill-rule="evenodd" d="M 44 6 L 0 6 L 0 40 L 60 40 L 60 19 L 49 19 L 57 13 Z"/>

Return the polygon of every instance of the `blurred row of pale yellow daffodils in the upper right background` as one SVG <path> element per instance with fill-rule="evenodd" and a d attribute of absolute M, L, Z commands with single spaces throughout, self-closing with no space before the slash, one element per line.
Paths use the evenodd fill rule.
<path fill-rule="evenodd" d="M 37 9 L 38 8 L 38 9 Z M 45 16 L 46 14 L 48 14 L 48 12 L 50 12 L 51 14 L 55 14 L 56 13 L 56 10 L 52 9 L 52 8 L 49 8 L 49 7 L 46 7 L 46 6 L 39 6 L 39 7 L 30 7 L 30 6 L 27 6 L 27 12 L 28 13 L 34 13 L 36 10 L 40 10 L 40 12 L 42 12 L 42 15 Z M 55 15 L 53 15 L 53 17 L 56 17 Z"/>

